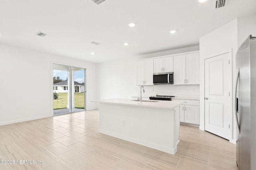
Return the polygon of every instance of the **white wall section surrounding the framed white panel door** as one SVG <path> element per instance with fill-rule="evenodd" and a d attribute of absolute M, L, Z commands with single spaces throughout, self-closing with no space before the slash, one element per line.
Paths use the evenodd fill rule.
<path fill-rule="evenodd" d="M 200 38 L 200 129 L 202 130 L 204 130 L 204 59 L 228 52 L 230 50 L 232 50 L 232 65 L 233 72 L 235 72 L 234 62 L 237 51 L 236 19 Z M 233 78 L 233 82 L 235 81 L 234 79 L 235 78 Z M 234 90 L 232 90 L 232 92 L 233 91 Z M 233 120 L 233 114 L 231 119 Z M 236 129 L 234 123 L 233 129 Z M 232 132 L 232 134 L 233 135 L 231 136 L 235 135 L 235 130 Z"/>

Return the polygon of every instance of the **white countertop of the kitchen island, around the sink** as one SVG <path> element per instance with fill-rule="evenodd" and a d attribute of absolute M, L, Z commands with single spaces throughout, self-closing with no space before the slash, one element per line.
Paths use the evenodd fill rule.
<path fill-rule="evenodd" d="M 149 101 L 149 100 L 148 100 Z M 184 102 L 178 101 L 164 101 L 164 100 L 150 100 L 154 102 L 139 102 L 132 101 L 132 99 L 105 99 L 105 100 L 93 100 L 91 102 L 106 103 L 106 104 L 119 104 L 128 106 L 140 106 L 140 107 L 154 107 L 163 109 L 174 109 L 176 106 Z"/>

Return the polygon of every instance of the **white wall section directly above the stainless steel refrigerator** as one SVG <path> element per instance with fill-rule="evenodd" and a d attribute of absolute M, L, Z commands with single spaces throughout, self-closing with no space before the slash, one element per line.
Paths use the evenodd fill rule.
<path fill-rule="evenodd" d="M 256 37 L 256 13 L 242 18 L 238 18 L 237 20 L 239 48 L 249 35 Z"/>

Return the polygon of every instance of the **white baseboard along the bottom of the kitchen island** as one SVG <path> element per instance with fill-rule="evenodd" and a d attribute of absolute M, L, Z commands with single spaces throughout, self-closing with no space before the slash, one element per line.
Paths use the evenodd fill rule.
<path fill-rule="evenodd" d="M 99 132 L 103 133 L 105 135 L 109 135 L 109 136 L 112 136 L 112 137 L 123 139 L 125 141 L 136 143 L 136 144 L 139 144 L 139 145 L 142 145 L 142 146 L 145 146 L 145 147 L 160 150 L 162 152 L 166 152 L 166 153 L 169 153 L 169 154 L 175 154 L 177 152 L 177 146 L 174 149 L 171 149 L 171 148 L 166 148 L 166 147 L 163 147 L 161 145 L 154 144 L 154 143 L 149 143 L 147 141 L 142 141 L 140 139 L 136 139 L 136 138 L 133 138 L 133 137 L 128 137 L 128 136 L 124 136 L 124 135 L 121 135 L 121 134 L 118 134 L 118 133 L 105 131 L 105 130 L 102 130 L 102 129 L 99 129 Z"/>

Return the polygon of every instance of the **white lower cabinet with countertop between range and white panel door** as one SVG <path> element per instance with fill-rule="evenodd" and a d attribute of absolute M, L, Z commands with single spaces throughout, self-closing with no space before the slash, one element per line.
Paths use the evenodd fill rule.
<path fill-rule="evenodd" d="M 199 100 L 172 99 L 172 101 L 184 101 L 180 105 L 180 122 L 199 125 Z"/>

